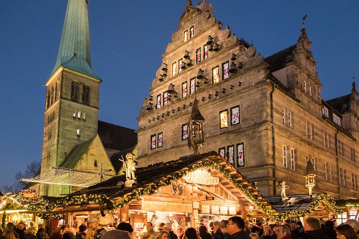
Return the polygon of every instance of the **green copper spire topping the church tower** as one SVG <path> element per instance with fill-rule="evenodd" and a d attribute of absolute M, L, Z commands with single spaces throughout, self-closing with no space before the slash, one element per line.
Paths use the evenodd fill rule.
<path fill-rule="evenodd" d="M 88 0 L 69 0 L 59 54 L 50 77 L 60 66 L 101 79 L 91 68 Z"/>

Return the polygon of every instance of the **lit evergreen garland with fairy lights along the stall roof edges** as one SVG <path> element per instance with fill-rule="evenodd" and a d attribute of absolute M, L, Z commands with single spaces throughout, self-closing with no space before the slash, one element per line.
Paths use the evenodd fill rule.
<path fill-rule="evenodd" d="M 157 182 L 153 182 L 147 187 L 135 189 L 130 194 L 125 195 L 122 199 L 113 201 L 109 199 L 104 194 L 81 194 L 81 195 L 69 195 L 66 197 L 61 197 L 61 200 L 57 197 L 46 197 L 46 196 L 34 196 L 34 197 L 24 197 L 23 194 L 18 193 L 15 194 L 10 192 L 5 194 L 0 198 L 0 211 L 5 209 L 26 209 L 27 211 L 52 211 L 55 208 L 61 208 L 64 206 L 71 205 L 106 205 L 109 210 L 114 210 L 118 208 L 122 208 L 126 204 L 128 204 L 131 200 L 137 200 L 142 195 L 152 195 L 158 190 L 160 187 L 164 187 L 170 185 L 172 181 L 181 179 L 183 176 L 186 176 L 188 173 L 193 172 L 198 169 L 214 169 L 222 176 L 228 180 L 234 187 L 239 189 L 247 199 L 255 206 L 258 207 L 264 214 L 269 216 L 272 219 L 284 220 L 288 218 L 290 215 L 298 215 L 304 216 L 311 214 L 317 206 L 323 200 L 326 200 L 328 204 L 333 208 L 335 214 L 341 214 L 342 210 L 336 206 L 335 201 L 332 197 L 330 197 L 326 192 L 323 192 L 320 196 L 317 197 L 313 201 L 313 203 L 309 206 L 308 209 L 300 211 L 289 211 L 285 213 L 277 213 L 273 208 L 267 208 L 267 205 L 256 196 L 252 194 L 251 191 L 248 190 L 246 186 L 244 186 L 240 181 L 237 180 L 235 176 L 230 174 L 230 170 L 225 169 L 223 165 L 218 165 L 213 161 L 205 161 L 196 165 L 188 166 L 186 169 L 180 170 L 162 180 Z M 3 202 L 6 202 L 5 205 Z M 1 206 L 3 206 L 1 208 Z M 54 218 L 63 218 L 63 213 L 46 213 L 46 214 L 37 214 L 39 217 L 43 219 L 47 219 L 50 216 Z"/>

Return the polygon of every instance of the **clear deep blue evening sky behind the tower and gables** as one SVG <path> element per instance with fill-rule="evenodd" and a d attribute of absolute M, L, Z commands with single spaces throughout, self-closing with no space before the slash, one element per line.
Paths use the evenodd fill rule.
<path fill-rule="evenodd" d="M 214 15 L 264 57 L 307 35 L 327 100 L 359 79 L 359 1 L 212 0 Z M 193 1 L 196 5 L 197 1 Z M 56 62 L 66 0 L 0 1 L 0 184 L 41 159 L 45 87 Z M 103 79 L 99 119 L 137 129 L 136 117 L 186 0 L 90 0 L 94 71 Z M 359 86 L 358 86 L 359 87 Z"/>

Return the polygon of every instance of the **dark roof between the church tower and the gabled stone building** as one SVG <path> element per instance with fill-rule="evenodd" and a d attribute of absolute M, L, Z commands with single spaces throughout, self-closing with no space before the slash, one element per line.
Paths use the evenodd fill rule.
<path fill-rule="evenodd" d="M 137 144 L 137 133 L 135 130 L 122 126 L 98 121 L 97 133 L 105 148 L 122 151 Z"/>

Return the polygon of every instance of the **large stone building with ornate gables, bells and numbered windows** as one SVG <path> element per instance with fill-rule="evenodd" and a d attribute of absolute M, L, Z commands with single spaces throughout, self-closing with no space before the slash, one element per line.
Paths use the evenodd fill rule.
<path fill-rule="evenodd" d="M 314 192 L 358 197 L 355 84 L 345 99 L 323 101 L 306 29 L 296 44 L 264 58 L 213 11 L 206 1 L 187 1 L 137 118 L 139 166 L 193 153 L 186 123 L 196 98 L 205 118 L 200 153 L 218 151 L 262 194 L 278 194 L 282 179 L 291 193 L 308 192 L 309 160 Z"/>

